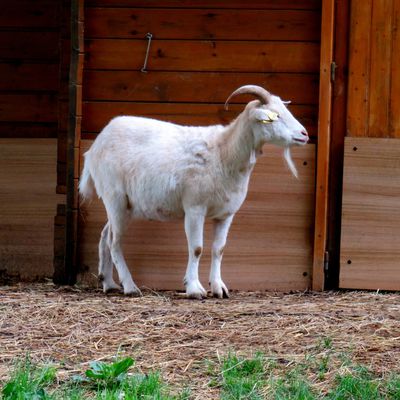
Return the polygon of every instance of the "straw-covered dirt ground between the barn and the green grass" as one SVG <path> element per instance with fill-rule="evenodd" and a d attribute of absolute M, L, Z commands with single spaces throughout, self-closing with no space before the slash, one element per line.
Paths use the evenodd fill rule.
<path fill-rule="evenodd" d="M 199 394 L 209 390 L 206 360 L 262 351 L 289 362 L 321 338 L 377 373 L 399 372 L 400 294 L 238 292 L 196 301 L 174 292 L 129 298 L 50 283 L 0 287 L 0 379 L 27 352 L 55 363 L 63 379 L 119 351 L 170 383 L 190 382 Z"/>

